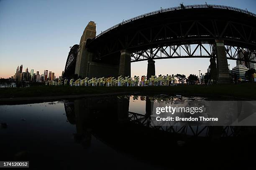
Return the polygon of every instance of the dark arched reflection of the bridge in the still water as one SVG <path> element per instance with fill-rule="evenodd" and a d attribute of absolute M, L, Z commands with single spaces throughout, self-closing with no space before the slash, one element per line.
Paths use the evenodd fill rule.
<path fill-rule="evenodd" d="M 230 166 L 230 161 L 251 159 L 250 154 L 242 158 L 241 154 L 244 154 L 245 147 L 247 153 L 253 152 L 250 147 L 255 140 L 248 137 L 255 134 L 253 127 L 152 126 L 153 100 L 145 97 L 146 113 L 136 113 L 129 111 L 132 98 L 108 96 L 65 102 L 67 119 L 76 126 L 74 140 L 87 149 L 93 145 L 92 138 L 96 138 L 116 152 L 131 155 L 142 162 L 151 163 L 154 158 L 153 164 L 168 163 L 170 158 L 164 156 L 166 153 L 175 155 L 172 155 L 174 162 L 182 158 L 186 163 L 195 163 L 200 158 L 198 166 L 210 165 L 215 155 L 219 159 L 216 165 L 221 166 Z M 224 150 L 225 154 L 220 155 Z M 193 156 L 184 157 L 189 154 Z M 180 167 L 179 164 L 166 166 Z"/>

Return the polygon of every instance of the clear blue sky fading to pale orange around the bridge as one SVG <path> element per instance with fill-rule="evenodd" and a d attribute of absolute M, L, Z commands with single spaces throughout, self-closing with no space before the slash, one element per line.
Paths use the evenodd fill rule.
<path fill-rule="evenodd" d="M 69 46 L 79 44 L 90 20 L 97 34 L 121 21 L 167 7 L 193 4 L 228 5 L 256 13 L 256 0 L 0 0 L 0 77 L 11 77 L 17 66 L 23 71 L 64 70 Z M 230 69 L 236 65 L 228 60 Z M 208 58 L 156 60 L 156 75 L 199 74 Z M 146 75 L 147 61 L 131 65 L 131 75 Z"/>

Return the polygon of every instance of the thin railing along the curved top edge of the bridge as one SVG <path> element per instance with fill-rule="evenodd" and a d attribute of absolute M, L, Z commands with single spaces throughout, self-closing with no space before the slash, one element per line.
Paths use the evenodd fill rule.
<path fill-rule="evenodd" d="M 256 17 L 256 14 L 254 13 L 251 13 L 247 10 L 242 10 L 242 9 L 239 9 L 239 8 L 236 8 L 236 7 L 229 7 L 229 6 L 223 6 L 223 5 L 207 5 L 207 4 L 204 4 L 204 5 L 186 5 L 184 7 L 169 7 L 169 8 L 165 8 L 165 9 L 161 9 L 161 10 L 156 10 L 156 11 L 153 11 L 153 12 L 150 12 L 150 13 L 146 13 L 146 14 L 143 14 L 143 15 L 139 15 L 137 17 L 134 17 L 134 18 L 131 18 L 131 19 L 128 19 L 128 20 L 123 20 L 123 22 L 121 23 L 118 23 L 110 28 L 108 28 L 107 30 L 105 31 L 102 31 L 99 35 L 97 35 L 95 38 L 97 37 L 100 37 L 100 35 L 110 31 L 110 30 L 113 30 L 114 28 L 117 28 L 118 26 L 120 25 L 123 25 L 123 24 L 126 24 L 126 23 L 129 23 L 133 20 L 138 20 L 140 18 L 144 18 L 144 17 L 147 17 L 147 16 L 150 16 L 150 15 L 155 15 L 157 13 L 165 13 L 165 12 L 169 12 L 169 11 L 174 11 L 174 10 L 182 10 L 182 9 L 193 9 L 193 8 L 216 8 L 216 9 L 225 9 L 225 10 L 233 10 L 233 11 L 238 11 L 238 12 L 241 12 L 241 13 L 246 13 L 248 15 L 251 15 L 253 17 Z M 94 38 L 94 39 L 95 39 Z"/>

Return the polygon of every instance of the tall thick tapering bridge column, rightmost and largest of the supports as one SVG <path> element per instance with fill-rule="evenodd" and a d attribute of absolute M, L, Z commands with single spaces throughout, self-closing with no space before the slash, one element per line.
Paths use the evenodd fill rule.
<path fill-rule="evenodd" d="M 215 40 L 217 52 L 217 79 L 219 84 L 230 83 L 228 60 L 223 40 Z"/>

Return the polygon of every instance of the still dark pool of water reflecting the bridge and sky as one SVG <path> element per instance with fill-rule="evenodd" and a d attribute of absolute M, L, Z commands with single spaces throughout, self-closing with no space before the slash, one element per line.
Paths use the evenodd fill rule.
<path fill-rule="evenodd" d="M 83 163 L 85 159 L 87 168 L 97 167 L 101 160 L 106 167 L 115 163 L 118 169 L 122 169 L 123 165 L 128 168 L 140 165 L 154 169 L 156 167 L 147 163 L 151 160 L 150 155 L 165 153 L 164 150 L 152 150 L 154 145 L 165 149 L 171 145 L 172 148 L 166 151 L 172 150 L 178 159 L 184 152 L 195 153 L 193 145 L 203 147 L 212 145 L 211 141 L 220 137 L 252 134 L 251 127 L 151 127 L 153 104 L 182 104 L 187 100 L 189 98 L 167 96 L 109 96 L 1 105 L 0 122 L 8 123 L 8 128 L 0 129 L 4 139 L 1 144 L 7 146 L 4 151 L 8 150 L 5 155 L 8 160 L 12 160 L 16 153 L 28 150 L 29 155 L 35 158 L 58 158 L 62 163 L 69 158 L 67 163 L 72 167 L 77 161 Z M 194 100 L 200 100 L 200 97 Z M 159 141 L 161 146 L 158 145 Z M 180 148 L 182 145 L 186 149 Z M 231 148 L 235 144 L 223 144 L 223 147 L 229 145 Z M 154 158 L 158 169 L 158 163 L 163 161 L 159 159 Z"/>

